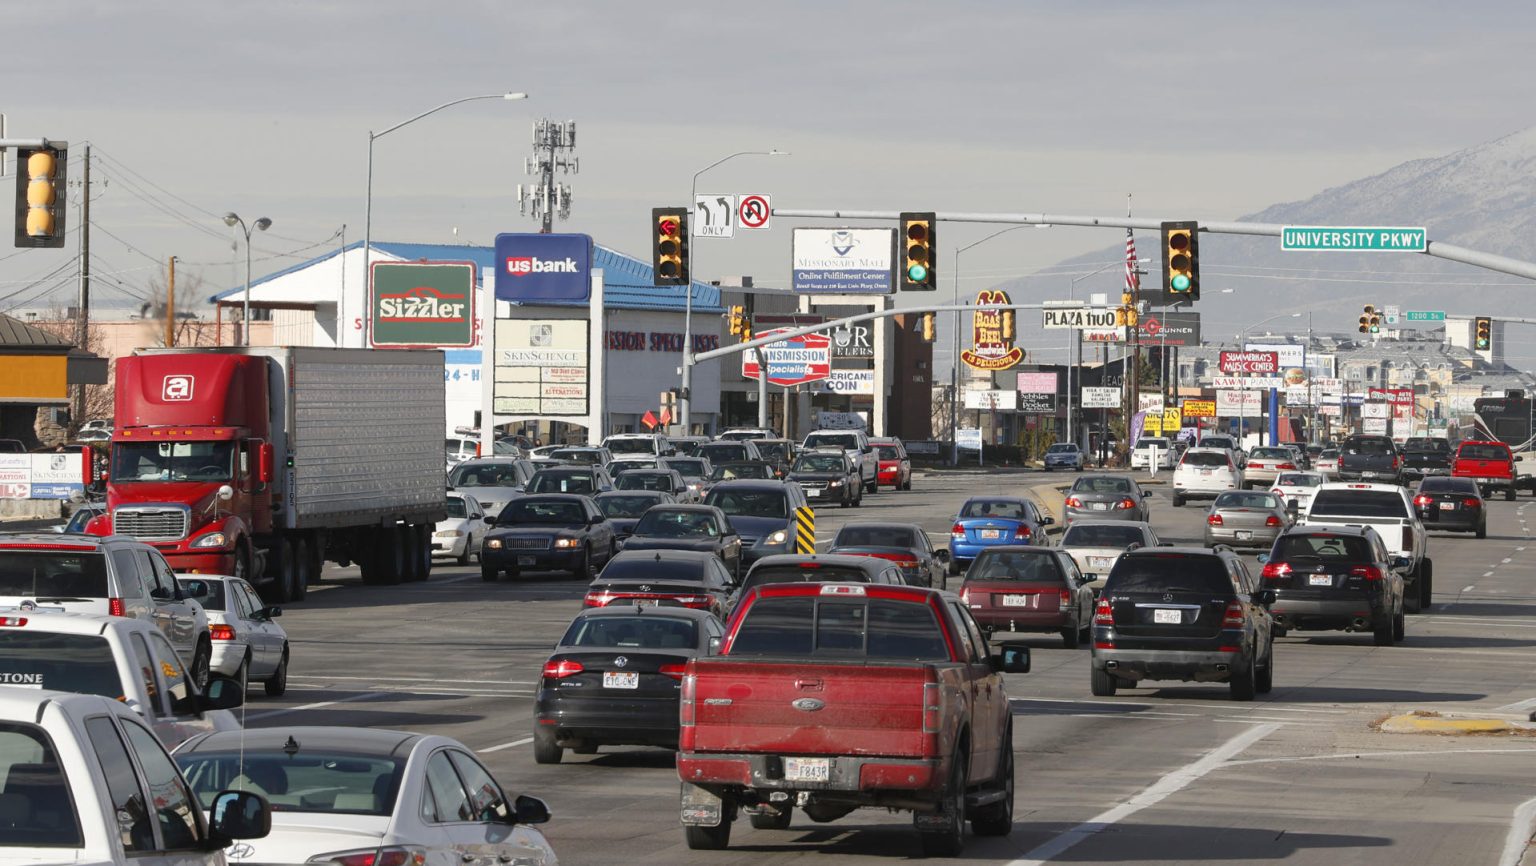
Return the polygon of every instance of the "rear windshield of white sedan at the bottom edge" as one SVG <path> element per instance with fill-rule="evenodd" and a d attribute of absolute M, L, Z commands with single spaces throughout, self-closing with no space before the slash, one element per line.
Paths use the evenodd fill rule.
<path fill-rule="evenodd" d="M 303 737 L 303 734 L 300 734 Z M 227 789 L 255 791 L 273 812 L 390 815 L 406 757 L 330 751 L 197 751 L 172 755 L 203 808 Z"/>

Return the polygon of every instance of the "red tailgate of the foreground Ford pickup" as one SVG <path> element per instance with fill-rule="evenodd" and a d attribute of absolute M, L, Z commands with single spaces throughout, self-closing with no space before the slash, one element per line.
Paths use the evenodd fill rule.
<path fill-rule="evenodd" d="M 931 665 L 697 659 L 684 680 L 682 749 L 931 757 L 928 683 L 937 683 Z"/>

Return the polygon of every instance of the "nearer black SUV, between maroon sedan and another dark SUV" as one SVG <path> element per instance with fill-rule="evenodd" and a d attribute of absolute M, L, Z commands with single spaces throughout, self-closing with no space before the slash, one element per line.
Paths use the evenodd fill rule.
<path fill-rule="evenodd" d="M 1193 680 L 1226 682 L 1232 700 L 1253 700 L 1275 682 L 1273 602 L 1224 545 L 1121 554 L 1094 610 L 1094 694 Z"/>

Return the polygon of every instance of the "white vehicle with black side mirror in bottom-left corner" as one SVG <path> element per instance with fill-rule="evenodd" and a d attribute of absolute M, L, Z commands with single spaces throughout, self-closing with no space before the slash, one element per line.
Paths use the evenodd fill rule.
<path fill-rule="evenodd" d="M 210 792 L 204 820 L 166 748 L 111 697 L 0 688 L 0 731 L 12 863 L 224 866 L 226 846 L 267 832 L 247 791 Z"/>

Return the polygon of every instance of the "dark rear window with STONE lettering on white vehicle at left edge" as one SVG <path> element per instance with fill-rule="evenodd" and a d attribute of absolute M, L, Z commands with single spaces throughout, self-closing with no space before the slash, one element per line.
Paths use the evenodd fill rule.
<path fill-rule="evenodd" d="M 0 685 L 78 691 L 112 700 L 127 694 L 112 646 L 100 634 L 0 631 Z"/>

